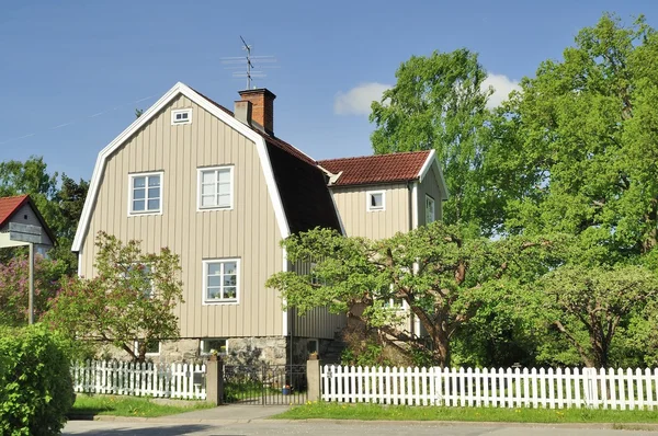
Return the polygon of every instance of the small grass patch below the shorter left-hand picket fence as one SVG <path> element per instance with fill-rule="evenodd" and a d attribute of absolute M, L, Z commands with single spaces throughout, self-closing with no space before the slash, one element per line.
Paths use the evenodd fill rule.
<path fill-rule="evenodd" d="M 207 409 L 213 405 L 203 401 L 181 401 L 179 404 L 164 404 L 145 397 L 86 395 L 76 397 L 70 415 L 114 415 L 155 417 Z"/>

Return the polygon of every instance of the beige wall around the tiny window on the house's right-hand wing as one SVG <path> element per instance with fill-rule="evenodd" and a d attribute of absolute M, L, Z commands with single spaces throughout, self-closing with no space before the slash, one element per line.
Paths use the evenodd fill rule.
<path fill-rule="evenodd" d="M 366 210 L 366 192 L 385 192 L 385 210 Z M 390 238 L 409 231 L 409 188 L 406 183 L 371 186 L 331 187 L 333 199 L 349 237 Z"/>

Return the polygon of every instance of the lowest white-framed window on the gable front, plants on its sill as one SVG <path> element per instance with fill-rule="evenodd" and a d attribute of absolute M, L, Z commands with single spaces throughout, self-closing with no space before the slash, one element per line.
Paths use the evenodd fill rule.
<path fill-rule="evenodd" d="M 203 262 L 203 301 L 238 302 L 240 269 L 239 259 Z"/>

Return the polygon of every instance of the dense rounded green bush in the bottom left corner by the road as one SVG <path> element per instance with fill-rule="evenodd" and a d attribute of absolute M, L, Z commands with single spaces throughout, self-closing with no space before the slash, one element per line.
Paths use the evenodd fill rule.
<path fill-rule="evenodd" d="M 0 330 L 0 434 L 57 435 L 75 401 L 70 346 L 44 325 Z"/>

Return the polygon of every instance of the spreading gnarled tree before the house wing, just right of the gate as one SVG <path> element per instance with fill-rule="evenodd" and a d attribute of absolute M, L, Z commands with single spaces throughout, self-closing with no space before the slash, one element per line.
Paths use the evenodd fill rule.
<path fill-rule="evenodd" d="M 463 238 L 456 227 L 440 222 L 382 241 L 316 229 L 283 244 L 292 262 L 315 260 L 310 275 L 283 272 L 269 278 L 268 286 L 290 307 L 299 314 L 317 307 L 347 313 L 382 332 L 389 345 L 428 353 L 436 365 L 451 364 L 451 342 L 483 305 L 503 299 L 506 286 L 524 279 L 506 275 L 517 268 L 512 259 L 538 245 Z M 392 299 L 404 301 L 408 311 L 390 308 Z M 410 314 L 426 333 L 409 331 Z"/>

